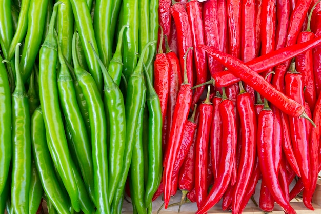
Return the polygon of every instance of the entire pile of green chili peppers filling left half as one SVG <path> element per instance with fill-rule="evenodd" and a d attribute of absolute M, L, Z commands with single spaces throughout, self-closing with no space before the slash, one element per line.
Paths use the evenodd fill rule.
<path fill-rule="evenodd" d="M 1 3 L 0 213 L 151 213 L 158 0 Z"/>

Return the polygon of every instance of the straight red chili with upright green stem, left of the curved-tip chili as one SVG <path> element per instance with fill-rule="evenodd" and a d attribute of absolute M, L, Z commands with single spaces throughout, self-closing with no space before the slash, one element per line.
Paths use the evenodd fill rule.
<path fill-rule="evenodd" d="M 213 105 L 210 102 L 210 87 L 206 100 L 199 105 L 199 123 L 196 136 L 196 160 L 195 160 L 195 190 L 196 202 L 199 208 L 207 197 L 207 163 L 208 144 L 212 123 Z"/>

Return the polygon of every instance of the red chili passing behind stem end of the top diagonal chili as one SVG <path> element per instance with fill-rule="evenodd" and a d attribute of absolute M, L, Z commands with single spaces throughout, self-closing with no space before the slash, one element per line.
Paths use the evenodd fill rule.
<path fill-rule="evenodd" d="M 303 77 L 301 74 L 287 73 L 285 76 L 286 94 L 304 105 Z M 305 188 L 309 189 L 311 182 L 309 144 L 306 138 L 306 121 L 303 118 L 289 117 L 291 140 L 301 178 Z"/>

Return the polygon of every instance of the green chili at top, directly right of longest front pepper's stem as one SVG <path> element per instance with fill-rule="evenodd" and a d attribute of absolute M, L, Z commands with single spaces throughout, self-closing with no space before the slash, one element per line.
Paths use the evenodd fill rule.
<path fill-rule="evenodd" d="M 58 41 L 62 49 L 63 56 L 67 62 L 71 63 L 71 42 L 73 34 L 73 13 L 69 0 L 60 0 L 63 4 L 58 9 Z"/>

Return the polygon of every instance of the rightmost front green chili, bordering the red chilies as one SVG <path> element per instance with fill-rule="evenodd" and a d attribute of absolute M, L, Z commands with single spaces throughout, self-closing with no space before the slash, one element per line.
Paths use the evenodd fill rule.
<path fill-rule="evenodd" d="M 146 70 L 145 70 L 146 71 Z M 158 95 L 150 81 L 148 72 L 145 72 L 147 82 L 147 107 L 149 111 L 148 127 L 148 179 L 145 191 L 145 205 L 151 207 L 152 198 L 156 192 L 163 171 L 162 154 L 162 109 L 160 108 Z"/>

